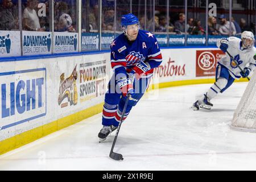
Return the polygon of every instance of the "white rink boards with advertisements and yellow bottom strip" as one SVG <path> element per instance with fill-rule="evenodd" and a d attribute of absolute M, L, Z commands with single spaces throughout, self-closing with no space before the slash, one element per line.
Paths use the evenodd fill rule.
<path fill-rule="evenodd" d="M 214 82 L 222 56 L 217 48 L 162 55 L 150 89 Z M 6 61 L 0 68 L 0 154 L 100 113 L 112 75 L 110 53 Z"/>

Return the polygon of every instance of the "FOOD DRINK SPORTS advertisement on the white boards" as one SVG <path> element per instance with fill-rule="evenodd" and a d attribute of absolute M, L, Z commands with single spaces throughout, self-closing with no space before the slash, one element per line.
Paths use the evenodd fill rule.
<path fill-rule="evenodd" d="M 80 102 L 105 94 L 106 60 L 81 63 L 79 75 Z"/>

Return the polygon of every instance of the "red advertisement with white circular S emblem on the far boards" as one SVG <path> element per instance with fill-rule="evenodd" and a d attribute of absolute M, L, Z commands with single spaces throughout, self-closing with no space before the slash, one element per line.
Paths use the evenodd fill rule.
<path fill-rule="evenodd" d="M 196 51 L 196 77 L 215 76 L 217 62 L 224 56 L 221 50 Z"/>

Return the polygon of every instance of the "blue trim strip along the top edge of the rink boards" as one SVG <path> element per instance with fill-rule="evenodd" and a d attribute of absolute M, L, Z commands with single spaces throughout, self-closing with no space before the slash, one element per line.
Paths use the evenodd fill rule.
<path fill-rule="evenodd" d="M 160 47 L 160 48 L 161 49 L 184 49 L 184 48 L 217 48 L 217 47 L 216 46 L 173 46 L 173 47 Z M 55 53 L 55 54 L 51 54 L 51 55 L 0 57 L 0 62 L 49 59 L 49 58 L 55 58 L 55 57 L 69 57 L 69 56 L 81 56 L 81 55 L 94 55 L 94 54 L 98 54 L 98 53 L 107 53 L 107 52 L 110 52 L 110 49 L 102 50 L 102 51 Z"/>

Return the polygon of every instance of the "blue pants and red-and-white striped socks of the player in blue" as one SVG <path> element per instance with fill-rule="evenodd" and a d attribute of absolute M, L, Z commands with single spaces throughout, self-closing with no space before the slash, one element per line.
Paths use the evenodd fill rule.
<path fill-rule="evenodd" d="M 130 100 L 126 107 L 125 115 L 123 121 L 127 118 L 130 110 L 135 106 L 141 99 L 143 94 L 146 92 L 148 85 L 150 83 L 150 76 L 144 76 L 138 81 L 133 82 L 133 88 L 135 93 L 130 96 Z M 123 96 L 121 90 L 119 89 L 117 82 L 115 81 L 115 76 L 113 75 L 108 84 L 108 91 L 105 94 L 105 103 L 102 111 L 102 125 L 104 126 L 118 126 L 121 119 L 123 107 L 125 106 L 127 96 Z"/>

